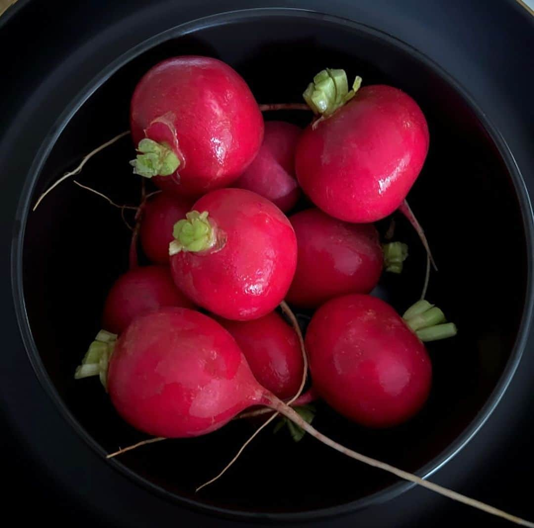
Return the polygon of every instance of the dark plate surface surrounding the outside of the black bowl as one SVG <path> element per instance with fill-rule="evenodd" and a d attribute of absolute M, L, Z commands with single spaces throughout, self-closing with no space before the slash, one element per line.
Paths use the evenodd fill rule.
<path fill-rule="evenodd" d="M 441 64 L 474 95 L 501 130 L 534 184 L 534 18 L 503 0 L 423 2 L 250 2 L 255 6 L 308 7 L 385 30 Z M 44 133 L 84 84 L 119 53 L 158 31 L 241 2 L 24 2 L 8 11 L 0 29 L 4 50 L 0 120 L 2 242 L 11 238 L 14 209 L 28 164 Z M 75 67 L 76 66 L 76 67 Z M 120 104 L 127 101 L 119 101 Z M 27 146 L 27 159 L 9 156 L 12 141 Z M 531 189 L 532 192 L 532 189 Z M 5 203 L 4 203 L 5 202 Z M 1 466 L 7 493 L 4 514 L 18 521 L 35 513 L 78 526 L 238 526 L 178 508 L 147 494 L 107 466 L 83 443 L 38 384 L 18 340 L 9 283 L 9 251 L 0 257 L 5 311 L 0 362 Z M 496 280 L 506 280 L 496 277 Z M 491 285 L 488 285 L 491 288 Z M 478 435 L 432 479 L 511 513 L 534 518 L 530 478 L 534 467 L 531 340 L 504 399 Z M 354 466 L 355 479 L 358 467 Z M 286 478 L 292 477 L 287 475 Z M 253 485 L 251 483 L 250 485 Z M 296 482 L 295 485 L 298 485 Z M 21 498 L 28 501 L 20 508 Z M 17 506 L 15 506 L 17 505 Z M 13 511 L 11 512 L 10 509 Z M 5 511 L 7 510 L 7 511 Z M 386 505 L 310 526 L 483 526 L 504 522 L 414 488 Z M 243 524 L 243 523 L 241 523 Z"/>

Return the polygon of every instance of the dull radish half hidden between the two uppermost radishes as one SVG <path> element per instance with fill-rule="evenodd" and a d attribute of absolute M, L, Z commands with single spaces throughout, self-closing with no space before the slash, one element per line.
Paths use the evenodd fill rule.
<path fill-rule="evenodd" d="M 291 123 L 266 122 L 260 152 L 235 187 L 264 196 L 284 212 L 293 209 L 300 196 L 295 179 L 295 148 L 301 133 Z"/>

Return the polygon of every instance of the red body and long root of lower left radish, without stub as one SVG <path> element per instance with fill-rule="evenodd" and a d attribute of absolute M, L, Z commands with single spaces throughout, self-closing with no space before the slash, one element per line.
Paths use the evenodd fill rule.
<path fill-rule="evenodd" d="M 149 434 L 166 437 L 206 434 L 221 428 L 243 409 L 263 404 L 350 458 L 453 500 L 534 527 L 534 523 L 327 438 L 261 387 L 233 337 L 216 321 L 199 312 L 163 308 L 135 319 L 113 346 L 107 367 L 107 387 L 113 405 L 125 420 Z"/>

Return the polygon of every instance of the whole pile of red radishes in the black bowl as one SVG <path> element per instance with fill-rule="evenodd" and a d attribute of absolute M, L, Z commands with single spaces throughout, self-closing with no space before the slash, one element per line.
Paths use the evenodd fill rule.
<path fill-rule="evenodd" d="M 407 257 L 373 222 L 398 210 L 428 249 L 405 199 L 429 133 L 409 95 L 361 82 L 349 90 L 343 70 L 321 71 L 304 91 L 312 114 L 301 130 L 264 122 L 219 60 L 171 58 L 143 76 L 131 165 L 159 192 L 139 206 L 131 269 L 75 377 L 100 376 L 119 416 L 156 439 L 268 409 L 351 458 L 516 521 L 333 442 L 301 407 L 320 398 L 371 428 L 410 420 L 431 391 L 423 342 L 457 332 L 424 299 L 406 299 L 401 317 L 372 295 Z M 293 311 L 310 319 L 304 336 Z"/>

